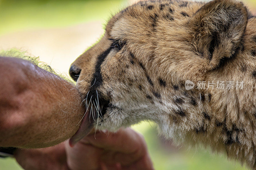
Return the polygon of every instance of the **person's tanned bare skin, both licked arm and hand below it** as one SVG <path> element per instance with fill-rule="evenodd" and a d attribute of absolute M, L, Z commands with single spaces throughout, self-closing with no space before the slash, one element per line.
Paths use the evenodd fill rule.
<path fill-rule="evenodd" d="M 81 102 L 72 83 L 0 57 L 0 147 L 41 148 L 15 150 L 24 169 L 153 169 L 144 138 L 130 128 L 93 130 L 73 147 L 63 142 L 81 123 Z"/>

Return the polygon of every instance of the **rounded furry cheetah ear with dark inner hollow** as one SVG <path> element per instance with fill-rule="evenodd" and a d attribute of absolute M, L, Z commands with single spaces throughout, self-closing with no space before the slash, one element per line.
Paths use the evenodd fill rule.
<path fill-rule="evenodd" d="M 189 23 L 192 45 L 198 55 L 209 60 L 209 70 L 243 48 L 246 25 L 246 7 L 233 0 L 211 1 L 194 14 Z"/>

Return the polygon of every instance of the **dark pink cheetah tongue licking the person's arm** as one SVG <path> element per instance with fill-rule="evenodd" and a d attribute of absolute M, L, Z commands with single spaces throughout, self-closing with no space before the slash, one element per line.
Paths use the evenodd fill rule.
<path fill-rule="evenodd" d="M 90 123 L 90 109 L 88 109 L 84 115 L 80 128 L 75 135 L 69 139 L 69 145 L 74 146 L 79 140 L 88 135 L 93 128 L 93 124 Z"/>

